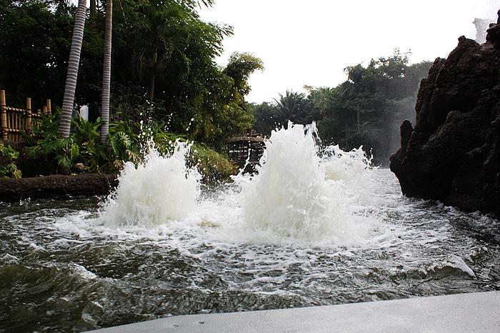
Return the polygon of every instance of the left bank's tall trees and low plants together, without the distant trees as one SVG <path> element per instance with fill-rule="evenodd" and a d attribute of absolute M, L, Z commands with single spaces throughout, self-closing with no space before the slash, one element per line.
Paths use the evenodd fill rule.
<path fill-rule="evenodd" d="M 244 96 L 249 76 L 264 66 L 247 52 L 232 54 L 226 67 L 215 63 L 233 32 L 199 19 L 199 6 L 213 3 L 121 0 L 111 11 L 111 1 L 91 1 L 85 12 L 81 1 L 77 8 L 69 1 L 2 0 L 0 62 L 11 66 L 0 69 L 0 87 L 14 105 L 30 96 L 34 105 L 51 99 L 57 110 L 26 135 L 26 157 L 37 173 L 67 172 L 75 163 L 85 172 L 118 172 L 124 161 L 141 161 L 144 142 L 167 154 L 176 139 L 196 140 L 190 163 L 206 179 L 236 172 L 213 148 L 224 152 L 226 138 L 254 124 Z M 89 106 L 89 121 L 74 103 Z"/>

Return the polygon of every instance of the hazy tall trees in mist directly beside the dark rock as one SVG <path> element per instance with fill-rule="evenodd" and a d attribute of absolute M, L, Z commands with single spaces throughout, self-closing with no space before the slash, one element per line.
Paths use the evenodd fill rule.
<path fill-rule="evenodd" d="M 416 91 L 430 67 L 429 61 L 409 65 L 409 54 L 395 49 L 366 67 L 346 67 L 348 79 L 331 91 L 329 107 L 321 111 L 320 136 L 343 149 L 363 145 L 376 163 L 386 163 L 399 142 L 399 124 L 415 119 Z"/>

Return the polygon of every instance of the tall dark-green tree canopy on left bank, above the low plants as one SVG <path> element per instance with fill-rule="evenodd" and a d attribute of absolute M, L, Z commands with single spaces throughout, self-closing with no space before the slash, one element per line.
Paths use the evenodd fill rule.
<path fill-rule="evenodd" d="M 214 59 L 231 26 L 201 21 L 212 0 L 120 0 L 114 4 L 111 114 L 134 124 L 154 121 L 164 131 L 220 145 L 254 118 L 244 96 L 249 75 L 264 69 L 249 53 L 222 68 Z M 105 3 L 87 9 L 76 105 L 100 115 Z M 0 0 L 0 87 L 10 105 L 51 99 L 61 106 L 76 7 L 61 0 Z M 122 116 L 123 118 L 123 116 Z"/>

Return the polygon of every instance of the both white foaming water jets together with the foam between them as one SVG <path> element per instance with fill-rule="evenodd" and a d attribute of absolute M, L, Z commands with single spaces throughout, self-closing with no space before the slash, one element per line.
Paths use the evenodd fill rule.
<path fill-rule="evenodd" d="M 273 131 L 258 174 L 239 174 L 204 199 L 199 173 L 184 161 L 189 145 L 177 142 L 171 156 L 151 149 L 144 164 L 126 164 L 102 219 L 109 227 L 203 227 L 205 237 L 236 242 L 359 242 L 378 224 L 359 214 L 373 170 L 361 149 L 319 154 L 315 135 L 314 124 Z"/>

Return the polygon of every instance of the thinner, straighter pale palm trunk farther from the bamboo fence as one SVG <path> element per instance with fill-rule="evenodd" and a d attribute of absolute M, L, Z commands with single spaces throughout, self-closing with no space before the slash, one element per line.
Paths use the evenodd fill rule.
<path fill-rule="evenodd" d="M 106 4 L 106 28 L 104 31 L 104 69 L 102 71 L 101 101 L 101 143 L 108 143 L 109 132 L 109 91 L 111 90 L 111 29 L 113 19 L 113 0 Z"/>

